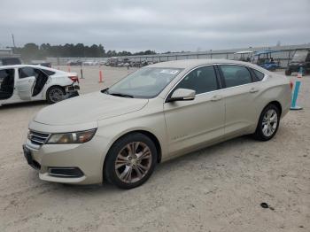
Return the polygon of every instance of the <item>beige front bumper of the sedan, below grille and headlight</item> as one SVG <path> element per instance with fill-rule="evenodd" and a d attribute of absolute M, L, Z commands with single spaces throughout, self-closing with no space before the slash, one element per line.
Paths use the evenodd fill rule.
<path fill-rule="evenodd" d="M 39 171 L 41 180 L 75 184 L 103 182 L 105 148 L 105 140 L 96 135 L 88 143 L 43 144 L 37 148 L 27 139 L 23 146 L 27 163 Z"/>

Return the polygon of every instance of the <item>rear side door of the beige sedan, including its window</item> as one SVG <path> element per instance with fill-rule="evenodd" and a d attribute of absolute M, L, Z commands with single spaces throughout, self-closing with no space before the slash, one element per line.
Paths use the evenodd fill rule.
<path fill-rule="evenodd" d="M 220 65 L 225 88 L 225 135 L 242 134 L 257 123 L 260 109 L 260 81 L 254 80 L 250 68 L 239 65 Z"/>

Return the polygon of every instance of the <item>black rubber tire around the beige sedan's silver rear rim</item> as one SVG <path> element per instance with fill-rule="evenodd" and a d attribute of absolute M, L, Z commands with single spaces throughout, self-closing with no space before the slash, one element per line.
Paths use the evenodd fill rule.
<path fill-rule="evenodd" d="M 275 124 L 272 124 L 272 122 L 266 122 L 266 116 L 267 116 L 267 112 L 275 112 L 276 113 L 276 125 Z M 275 105 L 275 104 L 268 104 L 264 110 L 260 113 L 260 120 L 259 120 L 259 123 L 257 125 L 257 128 L 256 128 L 256 131 L 255 133 L 253 134 L 253 137 L 257 140 L 260 140 L 260 141 L 268 141 L 270 139 L 272 139 L 278 128 L 279 128 L 279 125 L 280 125 L 280 110 L 279 108 Z M 265 120 L 264 120 L 265 119 Z M 269 124 L 268 124 L 269 123 Z M 265 126 L 267 125 L 267 131 L 269 130 L 269 127 L 268 125 L 270 125 L 271 128 L 274 128 L 274 125 L 275 125 L 275 128 L 274 128 L 274 131 L 271 132 L 270 131 L 270 135 L 267 135 L 267 131 L 265 129 L 265 132 L 264 132 L 264 129 L 263 128 L 266 128 Z"/>

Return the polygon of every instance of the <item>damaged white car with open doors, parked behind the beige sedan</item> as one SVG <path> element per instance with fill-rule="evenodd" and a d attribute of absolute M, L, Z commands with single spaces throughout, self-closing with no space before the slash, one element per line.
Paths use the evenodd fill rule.
<path fill-rule="evenodd" d="M 78 95 L 76 73 L 44 66 L 0 66 L 0 106 L 47 100 L 50 104 Z"/>

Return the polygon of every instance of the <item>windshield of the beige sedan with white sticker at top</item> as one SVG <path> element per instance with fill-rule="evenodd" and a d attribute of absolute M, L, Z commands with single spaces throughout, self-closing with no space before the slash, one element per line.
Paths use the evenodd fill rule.
<path fill-rule="evenodd" d="M 180 68 L 143 67 L 102 92 L 118 97 L 156 97 L 181 71 Z"/>

